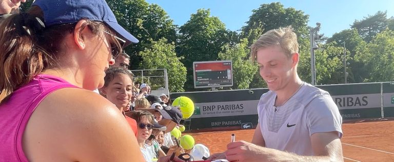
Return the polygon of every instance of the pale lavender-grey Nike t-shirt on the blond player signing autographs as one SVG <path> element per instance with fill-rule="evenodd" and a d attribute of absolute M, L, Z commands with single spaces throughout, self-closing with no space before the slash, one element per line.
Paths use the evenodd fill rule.
<path fill-rule="evenodd" d="M 337 131 L 342 117 L 328 92 L 304 83 L 284 105 L 275 107 L 277 94 L 268 91 L 258 104 L 259 124 L 267 148 L 314 155 L 310 136 Z"/>

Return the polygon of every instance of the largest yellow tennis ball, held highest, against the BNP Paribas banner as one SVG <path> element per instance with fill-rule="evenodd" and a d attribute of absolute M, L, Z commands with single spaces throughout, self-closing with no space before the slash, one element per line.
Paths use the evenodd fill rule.
<path fill-rule="evenodd" d="M 188 119 L 194 113 L 193 101 L 185 96 L 175 98 L 174 102 L 172 102 L 172 106 L 180 107 L 183 119 Z"/>

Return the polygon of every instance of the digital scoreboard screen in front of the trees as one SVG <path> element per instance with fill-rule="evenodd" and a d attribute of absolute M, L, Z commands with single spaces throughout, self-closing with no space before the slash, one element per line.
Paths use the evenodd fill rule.
<path fill-rule="evenodd" d="M 194 88 L 231 87 L 232 62 L 193 62 Z"/>

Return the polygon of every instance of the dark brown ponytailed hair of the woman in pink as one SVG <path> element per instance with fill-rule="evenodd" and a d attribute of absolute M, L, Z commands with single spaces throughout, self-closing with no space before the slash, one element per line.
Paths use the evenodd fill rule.
<path fill-rule="evenodd" d="M 19 87 L 34 76 L 58 67 L 58 57 L 65 52 L 65 36 L 74 31 L 76 23 L 44 27 L 43 12 L 33 6 L 27 13 L 10 15 L 0 23 L 0 102 L 4 102 Z M 94 34 L 109 30 L 102 22 L 86 20 Z M 112 36 L 116 46 L 120 43 Z M 120 48 L 121 49 L 121 48 Z M 122 52 L 122 51 L 120 51 Z"/>

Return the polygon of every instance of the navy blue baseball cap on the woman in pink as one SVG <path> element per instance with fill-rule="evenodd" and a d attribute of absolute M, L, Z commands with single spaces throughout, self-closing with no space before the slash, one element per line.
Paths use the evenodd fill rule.
<path fill-rule="evenodd" d="M 36 0 L 32 6 L 37 5 L 44 12 L 46 27 L 56 24 L 75 23 L 83 18 L 107 24 L 117 36 L 126 39 L 124 47 L 139 40 L 117 24 L 116 17 L 104 0 Z"/>

